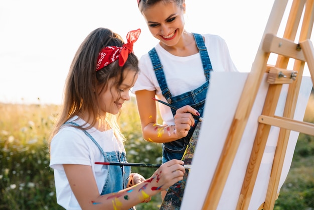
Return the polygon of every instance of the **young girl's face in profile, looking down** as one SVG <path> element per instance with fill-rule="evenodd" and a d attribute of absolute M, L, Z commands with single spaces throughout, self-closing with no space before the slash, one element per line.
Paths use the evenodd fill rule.
<path fill-rule="evenodd" d="M 119 113 L 122 108 L 122 103 L 125 100 L 130 99 L 130 89 L 134 86 L 134 83 L 137 79 L 137 73 L 132 70 L 124 69 L 123 73 L 123 82 L 118 87 L 114 84 L 114 79 L 109 79 L 108 88 L 100 92 L 98 97 L 98 107 L 100 110 L 100 115 L 104 116 L 106 113 L 116 115 Z M 119 92 L 118 92 L 119 91 Z"/>

